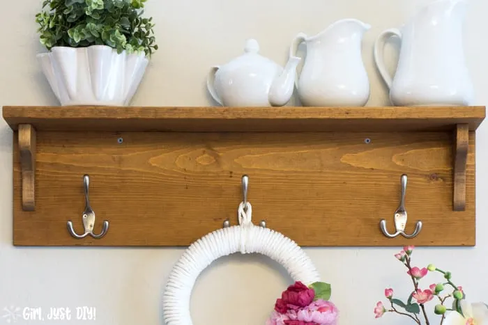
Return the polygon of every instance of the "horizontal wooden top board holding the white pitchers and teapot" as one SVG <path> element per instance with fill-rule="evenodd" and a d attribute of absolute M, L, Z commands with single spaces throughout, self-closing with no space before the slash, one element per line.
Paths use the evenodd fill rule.
<path fill-rule="evenodd" d="M 3 106 L 17 130 L 98 132 L 418 132 L 477 129 L 485 106 L 112 107 Z"/>

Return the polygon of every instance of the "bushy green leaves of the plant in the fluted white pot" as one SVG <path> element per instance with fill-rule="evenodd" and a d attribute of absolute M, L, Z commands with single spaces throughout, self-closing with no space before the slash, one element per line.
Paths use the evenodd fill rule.
<path fill-rule="evenodd" d="M 151 56 L 158 49 L 153 18 L 143 18 L 146 0 L 45 0 L 36 15 L 40 42 L 56 46 L 108 45 Z"/>

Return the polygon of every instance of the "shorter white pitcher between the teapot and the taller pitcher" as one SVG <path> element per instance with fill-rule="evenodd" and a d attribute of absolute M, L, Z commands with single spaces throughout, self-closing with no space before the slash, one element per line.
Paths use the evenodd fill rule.
<path fill-rule="evenodd" d="M 321 33 L 299 33 L 292 49 L 305 42 L 307 54 L 298 79 L 303 106 L 364 106 L 369 100 L 369 79 L 361 45 L 371 26 L 358 19 L 342 19 Z M 291 54 L 292 56 L 292 54 Z"/>

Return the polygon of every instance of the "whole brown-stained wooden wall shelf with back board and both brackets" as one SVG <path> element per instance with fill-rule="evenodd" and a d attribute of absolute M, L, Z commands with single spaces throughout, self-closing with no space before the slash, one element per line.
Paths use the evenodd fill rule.
<path fill-rule="evenodd" d="M 236 224 L 241 176 L 254 223 L 300 246 L 475 245 L 475 130 L 485 107 L 4 106 L 14 130 L 13 244 L 188 246 Z M 394 227 L 409 177 L 406 229 Z M 93 225 L 82 232 L 83 175 Z"/>

